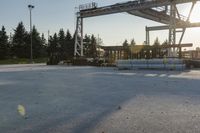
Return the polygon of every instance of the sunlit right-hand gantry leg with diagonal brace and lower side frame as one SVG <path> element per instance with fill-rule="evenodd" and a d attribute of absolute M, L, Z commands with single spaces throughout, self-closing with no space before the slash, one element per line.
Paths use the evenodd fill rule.
<path fill-rule="evenodd" d="M 194 28 L 194 27 L 200 27 L 200 23 L 190 23 L 190 16 L 192 14 L 192 11 L 194 9 L 194 6 L 196 4 L 196 1 L 192 2 L 192 6 L 190 8 L 189 14 L 184 22 L 177 23 L 176 17 L 181 19 L 179 11 L 176 7 L 176 5 L 172 2 L 170 5 L 170 24 L 165 26 L 155 26 L 155 27 L 146 27 L 146 43 L 150 45 L 150 35 L 149 31 L 155 31 L 155 30 L 169 30 L 169 40 L 168 44 L 173 46 L 174 44 L 177 44 L 177 34 L 181 34 L 178 45 L 181 45 L 186 28 Z M 181 47 L 169 47 L 168 48 L 168 57 L 181 57 Z"/>

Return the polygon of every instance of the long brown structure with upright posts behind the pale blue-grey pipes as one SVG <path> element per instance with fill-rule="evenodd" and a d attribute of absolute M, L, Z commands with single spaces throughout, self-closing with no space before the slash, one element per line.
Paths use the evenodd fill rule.
<path fill-rule="evenodd" d="M 101 46 L 104 51 L 104 58 L 109 62 L 120 59 L 151 59 L 161 58 L 166 55 L 167 51 L 162 47 L 149 45 L 133 46 Z"/>

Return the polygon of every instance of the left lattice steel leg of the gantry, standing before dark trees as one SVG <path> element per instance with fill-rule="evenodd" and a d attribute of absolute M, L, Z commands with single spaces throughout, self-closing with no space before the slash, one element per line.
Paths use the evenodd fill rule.
<path fill-rule="evenodd" d="M 75 46 L 74 57 L 83 56 L 83 18 L 77 17 L 76 32 L 75 32 Z"/>

